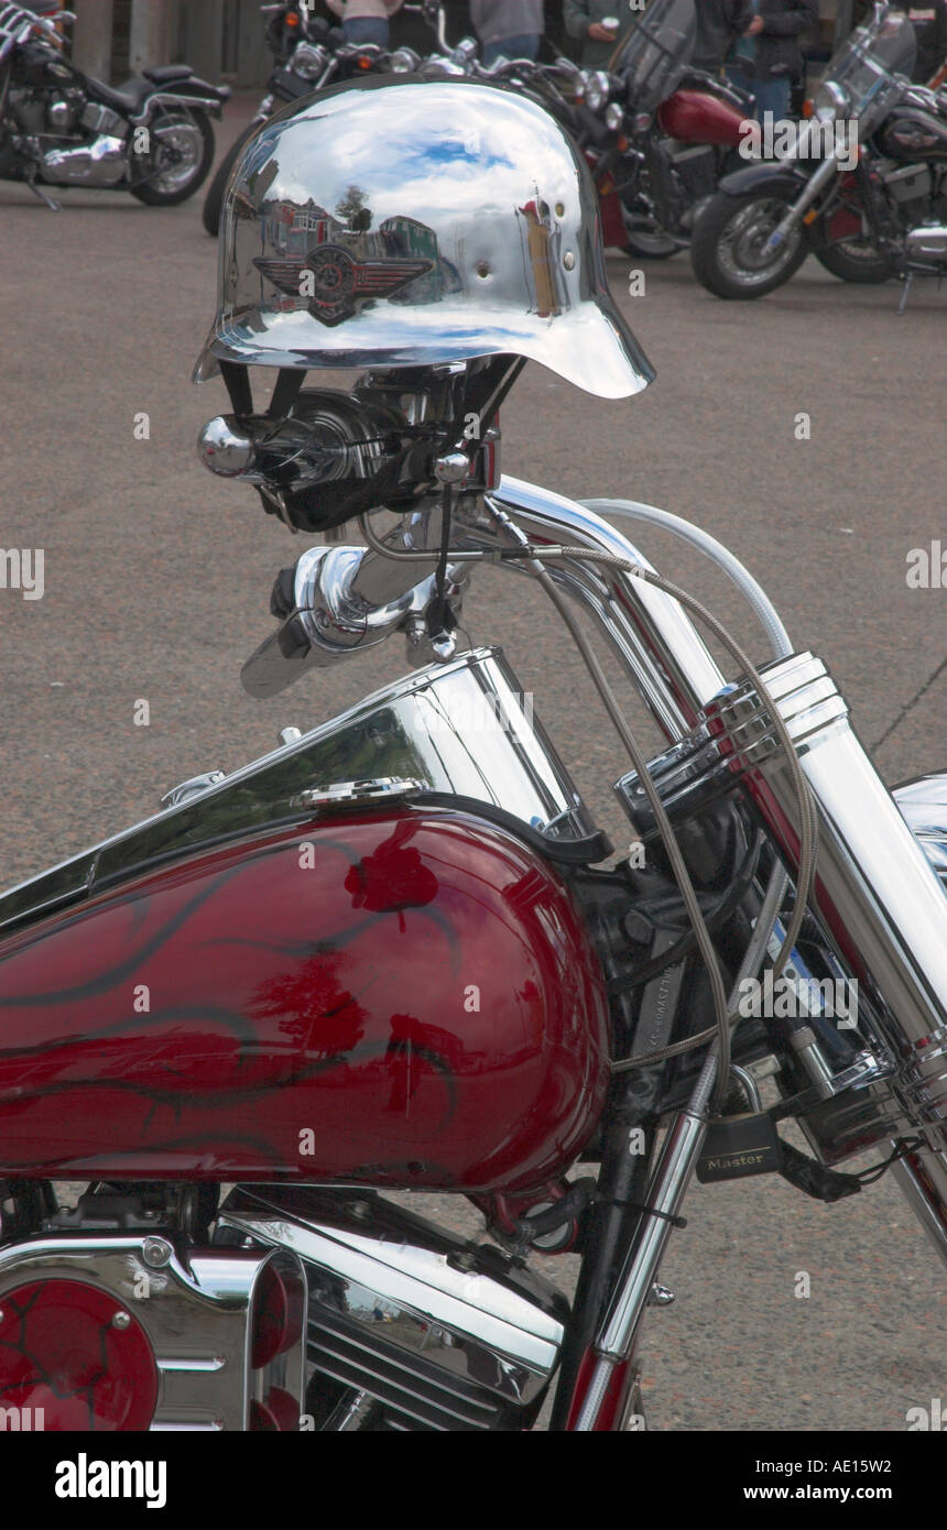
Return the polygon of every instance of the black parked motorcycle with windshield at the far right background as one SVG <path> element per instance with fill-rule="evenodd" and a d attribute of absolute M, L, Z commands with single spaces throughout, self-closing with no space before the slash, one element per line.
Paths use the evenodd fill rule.
<path fill-rule="evenodd" d="M 947 96 L 910 83 L 910 21 L 877 5 L 828 66 L 796 159 L 721 184 L 692 245 L 716 297 L 783 286 L 808 254 L 846 282 L 947 271 Z M 828 147 L 826 147 L 828 139 Z"/>

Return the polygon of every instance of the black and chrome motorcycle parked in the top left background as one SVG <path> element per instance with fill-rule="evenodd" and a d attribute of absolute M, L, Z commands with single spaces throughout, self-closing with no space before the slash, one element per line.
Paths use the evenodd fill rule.
<path fill-rule="evenodd" d="M 0 179 L 24 181 L 54 211 L 46 185 L 130 191 L 150 207 L 185 202 L 210 171 L 208 115 L 220 116 L 229 87 L 185 64 L 103 84 L 64 57 L 57 24 L 73 20 L 0 5 Z"/>

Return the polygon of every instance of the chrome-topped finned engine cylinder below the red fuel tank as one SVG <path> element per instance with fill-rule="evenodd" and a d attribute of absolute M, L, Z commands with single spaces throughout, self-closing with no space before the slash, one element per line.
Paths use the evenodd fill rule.
<path fill-rule="evenodd" d="M 499 1248 L 361 1189 L 237 1189 L 217 1227 L 306 1267 L 309 1398 L 321 1389 L 335 1406 L 326 1423 L 311 1412 L 309 1427 L 509 1431 L 535 1418 L 569 1307 Z"/>

